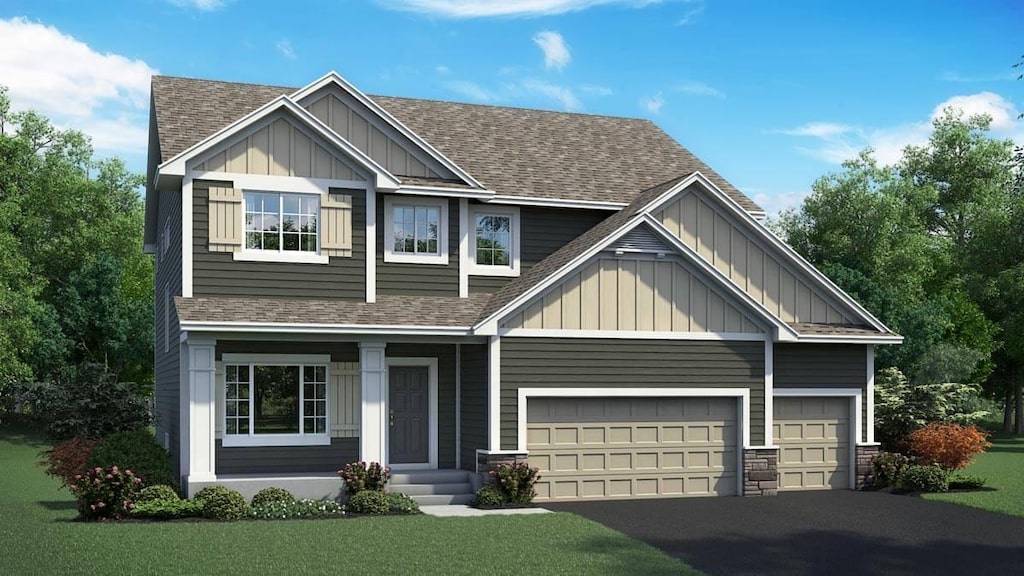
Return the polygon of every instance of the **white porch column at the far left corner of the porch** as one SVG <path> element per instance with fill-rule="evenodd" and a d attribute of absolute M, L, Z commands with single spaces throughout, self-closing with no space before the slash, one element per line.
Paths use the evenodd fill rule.
<path fill-rule="evenodd" d="M 181 422 L 181 474 L 190 484 L 216 480 L 214 472 L 214 430 L 216 429 L 216 340 L 188 338 L 182 346 L 187 354 L 187 387 L 181 403 L 187 420 Z M 184 383 L 184 382 L 182 382 Z M 184 410 L 183 410 L 184 412 Z"/>

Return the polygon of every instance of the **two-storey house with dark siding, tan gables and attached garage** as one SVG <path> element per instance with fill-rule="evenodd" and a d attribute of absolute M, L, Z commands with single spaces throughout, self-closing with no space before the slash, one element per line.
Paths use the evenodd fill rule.
<path fill-rule="evenodd" d="M 355 460 L 444 501 L 522 460 L 540 500 L 774 494 L 878 450 L 900 336 L 649 121 L 158 76 L 146 181 L 189 494 Z"/>

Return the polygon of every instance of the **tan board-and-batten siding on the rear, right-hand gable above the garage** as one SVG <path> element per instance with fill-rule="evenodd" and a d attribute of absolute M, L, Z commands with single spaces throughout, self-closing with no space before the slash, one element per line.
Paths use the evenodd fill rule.
<path fill-rule="evenodd" d="M 854 313 L 825 295 L 816 280 L 755 240 L 698 187 L 691 187 L 654 217 L 782 322 L 860 322 Z"/>

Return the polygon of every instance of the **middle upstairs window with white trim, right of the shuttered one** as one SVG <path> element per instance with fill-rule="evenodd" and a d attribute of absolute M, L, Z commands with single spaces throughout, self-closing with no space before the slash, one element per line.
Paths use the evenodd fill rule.
<path fill-rule="evenodd" d="M 384 200 L 384 260 L 447 263 L 447 201 L 387 197 Z"/>

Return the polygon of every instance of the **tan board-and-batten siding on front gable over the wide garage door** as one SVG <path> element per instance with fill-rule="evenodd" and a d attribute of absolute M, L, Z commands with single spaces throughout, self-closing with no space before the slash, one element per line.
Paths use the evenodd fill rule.
<path fill-rule="evenodd" d="M 602 254 L 507 320 L 544 330 L 746 332 L 763 330 L 703 275 L 676 258 Z"/>

